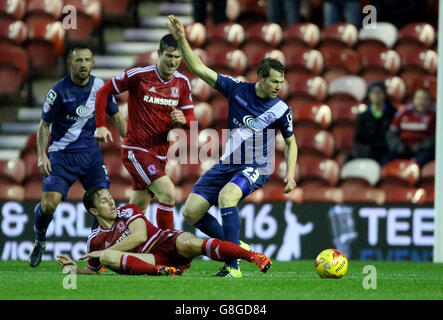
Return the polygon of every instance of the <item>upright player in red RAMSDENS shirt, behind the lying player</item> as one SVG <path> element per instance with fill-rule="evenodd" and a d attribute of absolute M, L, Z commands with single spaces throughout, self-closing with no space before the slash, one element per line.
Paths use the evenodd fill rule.
<path fill-rule="evenodd" d="M 157 225 L 172 229 L 175 188 L 165 174 L 168 133 L 174 126 L 189 127 L 195 117 L 190 82 L 177 71 L 182 57 L 172 35 L 161 39 L 158 55 L 157 64 L 128 69 L 98 91 L 95 138 L 112 140 L 105 123 L 106 101 L 109 95 L 129 91 L 128 132 L 121 153 L 132 177 L 129 203 L 144 212 L 155 194 Z"/>

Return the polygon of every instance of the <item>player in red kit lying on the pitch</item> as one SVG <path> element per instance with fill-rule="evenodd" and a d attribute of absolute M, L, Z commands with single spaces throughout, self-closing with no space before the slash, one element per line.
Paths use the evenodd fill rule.
<path fill-rule="evenodd" d="M 86 210 L 98 224 L 88 239 L 88 265 L 78 269 L 74 261 L 58 256 L 62 267 L 75 266 L 78 274 L 99 274 L 102 265 L 122 274 L 176 275 L 190 267 L 192 259 L 205 255 L 216 261 L 244 259 L 262 272 L 272 265 L 263 254 L 214 238 L 200 239 L 192 233 L 158 229 L 139 207 L 128 204 L 116 208 L 108 189 L 92 187 L 83 196 Z"/>

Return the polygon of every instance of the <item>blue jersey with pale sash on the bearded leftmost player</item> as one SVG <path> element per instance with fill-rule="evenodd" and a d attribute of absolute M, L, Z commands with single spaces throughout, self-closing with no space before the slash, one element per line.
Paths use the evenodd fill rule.
<path fill-rule="evenodd" d="M 42 119 L 52 123 L 48 152 L 98 148 L 94 139 L 95 95 L 103 85 L 103 80 L 90 76 L 85 86 L 79 86 L 68 74 L 51 87 L 42 112 Z M 118 112 L 113 96 L 109 97 L 106 112 L 110 116 Z"/>

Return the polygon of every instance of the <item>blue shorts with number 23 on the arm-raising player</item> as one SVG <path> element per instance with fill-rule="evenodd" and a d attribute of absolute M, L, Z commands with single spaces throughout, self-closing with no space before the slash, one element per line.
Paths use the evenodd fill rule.
<path fill-rule="evenodd" d="M 197 180 L 191 192 L 201 195 L 211 205 L 218 205 L 218 195 L 228 182 L 242 189 L 244 199 L 263 187 L 268 180 L 269 175 L 260 175 L 254 167 L 217 163 Z"/>

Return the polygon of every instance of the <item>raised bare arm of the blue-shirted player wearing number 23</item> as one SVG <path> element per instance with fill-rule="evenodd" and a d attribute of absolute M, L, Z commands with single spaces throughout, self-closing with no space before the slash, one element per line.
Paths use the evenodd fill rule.
<path fill-rule="evenodd" d="M 214 87 L 215 83 L 217 82 L 217 73 L 205 66 L 194 51 L 192 51 L 188 40 L 186 40 L 185 29 L 180 20 L 173 15 L 168 16 L 168 18 L 171 24 L 167 24 L 167 27 L 175 40 L 177 40 L 183 60 L 185 60 L 189 71 L 198 76 L 211 87 Z"/>

